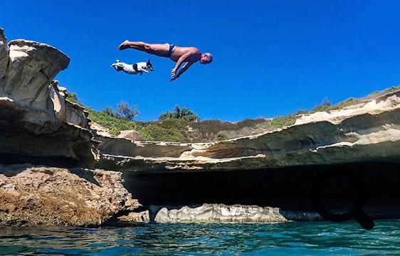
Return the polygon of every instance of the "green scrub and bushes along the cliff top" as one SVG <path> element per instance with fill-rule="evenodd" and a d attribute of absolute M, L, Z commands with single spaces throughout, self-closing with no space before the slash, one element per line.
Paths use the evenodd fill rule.
<path fill-rule="evenodd" d="M 204 120 L 199 122 L 199 116 L 186 107 L 174 107 L 174 112 L 164 112 L 159 120 L 152 122 L 137 122 L 132 119 L 139 113 L 136 106 L 129 107 L 127 103 L 118 105 L 117 110 L 110 107 L 96 111 L 85 107 L 89 119 L 109 129 L 110 134 L 118 135 L 123 130 L 135 130 L 140 140 L 162 142 L 214 142 L 219 140 L 243 137 L 261 132 L 272 131 L 295 123 L 300 114 L 342 110 L 344 107 L 355 105 L 364 99 L 379 97 L 400 90 L 400 86 L 391 87 L 381 92 L 373 92 L 362 99 L 349 98 L 332 105 L 327 97 L 312 110 L 298 110 L 296 114 L 284 117 L 245 119 L 241 122 L 222 122 L 221 120 Z M 67 100 L 82 105 L 75 93 L 69 93 Z M 125 112 L 124 112 L 125 110 Z M 125 114 L 123 114 L 125 113 Z"/>

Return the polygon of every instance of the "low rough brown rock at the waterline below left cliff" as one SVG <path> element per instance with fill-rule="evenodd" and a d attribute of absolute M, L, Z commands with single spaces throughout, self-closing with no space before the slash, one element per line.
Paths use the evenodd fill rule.
<path fill-rule="evenodd" d="M 0 226 L 98 226 L 134 210 L 121 174 L 89 169 L 0 166 Z"/>

